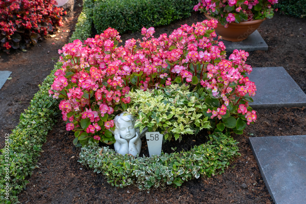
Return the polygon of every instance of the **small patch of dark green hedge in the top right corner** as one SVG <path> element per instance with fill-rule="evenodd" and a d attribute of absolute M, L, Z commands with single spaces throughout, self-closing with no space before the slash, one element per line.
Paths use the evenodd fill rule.
<path fill-rule="evenodd" d="M 275 7 L 286 15 L 298 18 L 306 17 L 306 0 L 278 0 Z"/>

